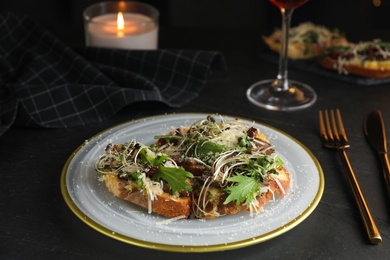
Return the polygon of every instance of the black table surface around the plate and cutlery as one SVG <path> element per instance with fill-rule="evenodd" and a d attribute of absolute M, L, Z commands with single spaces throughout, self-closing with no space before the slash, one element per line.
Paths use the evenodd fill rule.
<path fill-rule="evenodd" d="M 213 74 L 199 97 L 173 109 L 159 103 L 126 107 L 100 124 L 67 129 L 11 128 L 0 137 L 0 256 L 3 259 L 385 259 L 390 255 L 390 204 L 378 158 L 362 124 L 381 109 L 390 133 L 390 84 L 362 86 L 291 68 L 289 76 L 318 94 L 310 108 L 277 112 L 246 98 L 255 81 L 273 78 L 277 64 L 259 58 L 261 38 L 253 32 L 162 30 L 161 48 L 221 51 L 228 69 Z M 66 38 L 66 37 L 65 37 Z M 340 108 L 351 143 L 350 161 L 383 242 L 372 245 L 336 151 L 322 147 L 318 110 Z M 178 112 L 221 113 L 250 118 L 293 136 L 316 156 L 325 189 L 314 212 L 292 230 L 249 247 L 210 253 L 146 249 L 107 237 L 66 205 L 60 191 L 65 161 L 86 139 L 118 123 Z"/>

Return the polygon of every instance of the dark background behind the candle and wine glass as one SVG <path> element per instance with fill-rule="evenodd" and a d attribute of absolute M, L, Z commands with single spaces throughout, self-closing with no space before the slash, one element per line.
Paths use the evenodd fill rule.
<path fill-rule="evenodd" d="M 0 12 L 29 15 L 60 37 L 83 41 L 82 12 L 96 0 L 3 0 Z M 266 0 L 144 0 L 161 12 L 164 27 L 198 27 L 270 33 L 280 26 L 279 10 Z M 352 41 L 390 41 L 390 0 L 311 0 L 298 8 L 293 25 L 312 21 L 339 28 Z M 61 29 L 54 29 L 61 28 Z M 55 31 L 57 30 L 57 31 Z M 75 35 L 77 37 L 75 37 Z"/>

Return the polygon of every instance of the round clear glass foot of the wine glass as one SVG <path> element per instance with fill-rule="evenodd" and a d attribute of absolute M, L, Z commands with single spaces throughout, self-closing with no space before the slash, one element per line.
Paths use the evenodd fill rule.
<path fill-rule="evenodd" d="M 256 106 L 278 111 L 293 111 L 307 108 L 317 100 L 314 90 L 308 85 L 290 80 L 288 90 L 275 87 L 274 79 L 254 83 L 246 95 Z"/>

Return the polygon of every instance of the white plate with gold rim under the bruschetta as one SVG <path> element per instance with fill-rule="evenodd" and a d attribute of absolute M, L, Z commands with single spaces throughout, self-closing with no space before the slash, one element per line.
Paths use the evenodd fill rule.
<path fill-rule="evenodd" d="M 148 117 L 95 135 L 69 157 L 63 168 L 61 191 L 66 203 L 82 221 L 107 236 L 141 247 L 177 252 L 221 251 L 260 243 L 287 232 L 310 215 L 324 189 L 320 164 L 291 136 L 256 122 L 255 127 L 275 146 L 292 178 L 287 195 L 267 204 L 256 217 L 242 212 L 214 220 L 180 220 L 158 225 L 164 217 L 148 214 L 143 208 L 115 198 L 97 180 L 94 163 L 108 143 L 136 139 L 152 144 L 156 141 L 154 136 L 206 116 L 191 113 Z"/>

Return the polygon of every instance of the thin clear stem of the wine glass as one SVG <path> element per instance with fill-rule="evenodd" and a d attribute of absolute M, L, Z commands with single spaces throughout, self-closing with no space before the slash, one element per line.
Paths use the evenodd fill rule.
<path fill-rule="evenodd" d="M 293 14 L 294 8 L 280 8 L 282 14 L 282 37 L 281 37 L 281 46 L 280 46 L 280 56 L 279 56 L 279 71 L 277 75 L 276 82 L 274 83 L 277 86 L 278 91 L 287 91 L 289 88 L 288 85 L 288 39 L 289 31 L 291 24 L 291 17 Z"/>

